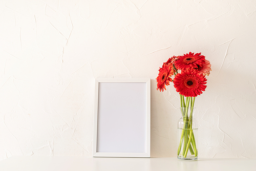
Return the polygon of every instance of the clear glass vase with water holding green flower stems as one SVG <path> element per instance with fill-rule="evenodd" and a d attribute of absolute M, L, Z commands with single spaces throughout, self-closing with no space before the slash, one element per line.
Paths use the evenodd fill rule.
<path fill-rule="evenodd" d="M 178 153 L 180 160 L 198 158 L 198 122 L 195 108 L 180 108 L 182 117 L 178 120 Z"/>

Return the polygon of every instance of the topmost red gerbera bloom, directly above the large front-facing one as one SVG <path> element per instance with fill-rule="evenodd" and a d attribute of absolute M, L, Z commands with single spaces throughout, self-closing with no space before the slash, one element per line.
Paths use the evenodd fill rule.
<path fill-rule="evenodd" d="M 201 53 L 196 53 L 194 55 L 194 53 L 189 52 L 189 54 L 179 56 L 174 63 L 178 70 L 187 70 L 201 67 L 202 61 L 205 61 L 205 56 L 201 55 Z"/>

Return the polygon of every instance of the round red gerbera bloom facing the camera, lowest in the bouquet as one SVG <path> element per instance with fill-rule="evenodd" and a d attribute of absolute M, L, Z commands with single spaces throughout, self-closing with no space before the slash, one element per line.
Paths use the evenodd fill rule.
<path fill-rule="evenodd" d="M 196 97 L 202 94 L 206 88 L 205 75 L 196 70 L 187 70 L 177 74 L 174 78 L 174 87 L 177 92 L 185 97 Z"/>

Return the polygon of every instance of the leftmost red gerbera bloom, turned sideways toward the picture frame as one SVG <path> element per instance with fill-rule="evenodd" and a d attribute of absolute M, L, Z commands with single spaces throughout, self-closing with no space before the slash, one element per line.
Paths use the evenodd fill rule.
<path fill-rule="evenodd" d="M 169 81 L 173 81 L 170 76 L 174 74 L 174 67 L 173 65 L 166 65 L 165 63 L 163 64 L 163 67 L 160 68 L 159 74 L 156 78 L 157 80 L 157 90 L 160 90 L 160 92 L 163 92 L 163 89 L 165 89 L 165 85 L 168 86 L 170 83 Z"/>

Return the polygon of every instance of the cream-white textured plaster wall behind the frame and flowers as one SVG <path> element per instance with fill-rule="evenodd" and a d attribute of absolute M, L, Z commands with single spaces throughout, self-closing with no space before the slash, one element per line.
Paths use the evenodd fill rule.
<path fill-rule="evenodd" d="M 255 39 L 254 0 L 1 0 L 0 160 L 92 156 L 98 77 L 152 79 L 151 156 L 176 157 L 179 95 L 155 78 L 189 51 L 212 65 L 199 157 L 255 158 Z"/>

